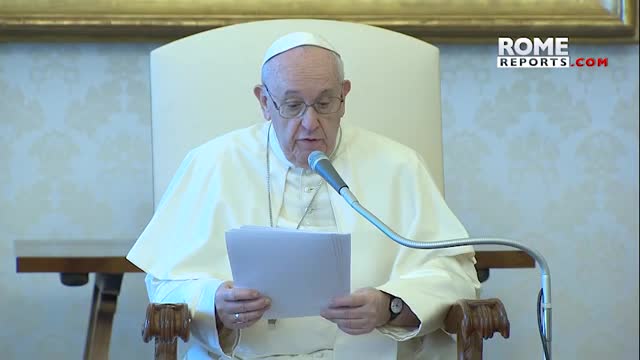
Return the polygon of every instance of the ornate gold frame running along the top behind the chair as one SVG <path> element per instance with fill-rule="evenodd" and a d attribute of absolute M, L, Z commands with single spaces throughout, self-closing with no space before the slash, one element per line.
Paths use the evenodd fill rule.
<path fill-rule="evenodd" d="M 365 23 L 435 43 L 638 43 L 638 0 L 1 0 L 0 39 L 177 39 L 286 18 Z"/>

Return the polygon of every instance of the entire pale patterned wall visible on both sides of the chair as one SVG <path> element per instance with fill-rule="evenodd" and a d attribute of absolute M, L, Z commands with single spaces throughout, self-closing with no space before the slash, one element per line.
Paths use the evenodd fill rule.
<path fill-rule="evenodd" d="M 16 274 L 13 239 L 134 239 L 152 213 L 148 53 L 157 44 L 0 44 L 0 358 L 80 359 L 89 286 Z M 539 249 L 556 359 L 638 358 L 638 46 L 574 46 L 600 69 L 495 68 L 442 46 L 447 198 L 472 235 Z M 113 359 L 152 358 L 141 275 Z M 541 359 L 537 270 L 491 274 L 512 336 L 490 359 Z"/>

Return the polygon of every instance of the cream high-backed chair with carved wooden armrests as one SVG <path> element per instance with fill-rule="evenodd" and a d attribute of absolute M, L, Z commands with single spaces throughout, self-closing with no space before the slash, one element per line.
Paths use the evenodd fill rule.
<path fill-rule="evenodd" d="M 190 149 L 264 121 L 252 93 L 260 82 L 262 56 L 273 40 L 292 31 L 318 33 L 341 54 L 352 82 L 343 122 L 414 148 L 444 194 L 438 49 L 367 25 L 271 20 L 206 31 L 151 53 L 154 204 Z M 175 358 L 176 336 L 188 339 L 189 318 L 184 304 L 149 305 L 143 332 L 145 341 L 156 339 L 157 356 Z M 508 337 L 509 331 L 496 299 L 461 300 L 445 328 L 458 335 L 460 359 L 479 358 L 482 338 L 497 330 Z"/>

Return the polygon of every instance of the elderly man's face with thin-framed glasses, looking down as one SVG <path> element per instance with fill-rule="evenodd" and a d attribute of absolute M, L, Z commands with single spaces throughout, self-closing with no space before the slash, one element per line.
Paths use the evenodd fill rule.
<path fill-rule="evenodd" d="M 298 167 L 308 167 L 307 158 L 312 151 L 330 154 L 336 146 L 344 103 L 331 114 L 321 114 L 309 106 L 301 115 L 283 117 L 283 108 L 318 104 L 322 108 L 344 98 L 351 89 L 349 81 L 340 81 L 335 55 L 328 50 L 303 46 L 271 59 L 264 86 L 256 86 L 254 94 L 260 101 L 265 119 L 271 120 L 280 147 L 287 159 Z M 269 94 L 273 97 L 269 97 Z M 333 99 L 332 99 L 333 98 Z"/>

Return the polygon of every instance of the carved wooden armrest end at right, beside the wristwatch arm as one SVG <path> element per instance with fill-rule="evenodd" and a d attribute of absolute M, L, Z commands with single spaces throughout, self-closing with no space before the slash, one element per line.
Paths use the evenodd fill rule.
<path fill-rule="evenodd" d="M 482 360 L 482 341 L 496 332 L 509 338 L 507 311 L 499 299 L 459 300 L 451 306 L 444 326 L 457 334 L 458 360 Z"/>

